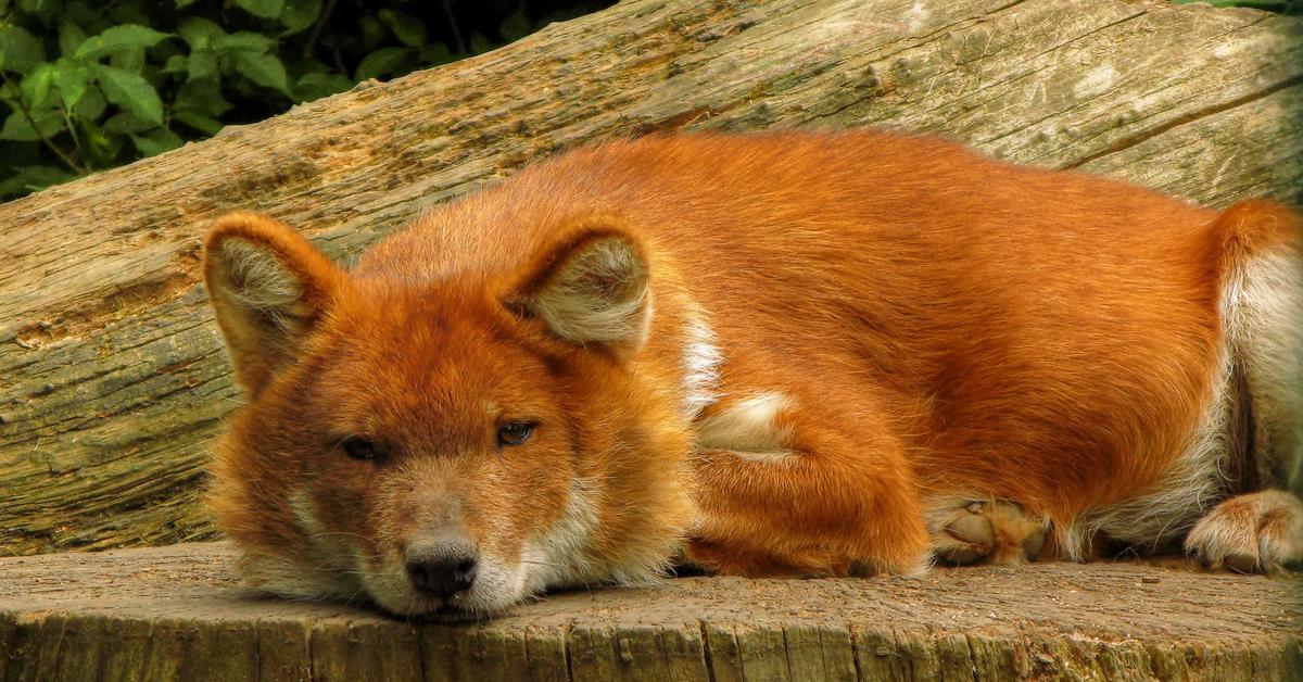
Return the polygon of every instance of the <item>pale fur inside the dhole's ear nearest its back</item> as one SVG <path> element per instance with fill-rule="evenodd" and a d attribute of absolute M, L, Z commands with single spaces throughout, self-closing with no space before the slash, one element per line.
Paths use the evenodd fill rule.
<path fill-rule="evenodd" d="M 623 235 L 584 240 L 558 259 L 525 306 L 552 334 L 572 343 L 637 351 L 652 322 L 648 265 Z"/>

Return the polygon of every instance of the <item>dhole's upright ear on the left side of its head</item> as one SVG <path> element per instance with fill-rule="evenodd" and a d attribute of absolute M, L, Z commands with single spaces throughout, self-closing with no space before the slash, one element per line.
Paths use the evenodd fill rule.
<path fill-rule="evenodd" d="M 344 273 L 289 226 L 233 213 L 208 232 L 203 279 L 236 381 L 254 396 L 294 357 Z"/>

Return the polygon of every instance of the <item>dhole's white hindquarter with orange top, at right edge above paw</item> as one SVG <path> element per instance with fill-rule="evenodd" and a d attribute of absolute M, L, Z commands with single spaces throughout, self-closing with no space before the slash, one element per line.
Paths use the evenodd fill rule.
<path fill-rule="evenodd" d="M 1248 462 L 1240 485 L 1303 492 L 1303 215 L 1265 201 L 1214 227 L 1222 325 L 1247 385 Z M 1243 489 L 1243 488 L 1242 488 Z"/>

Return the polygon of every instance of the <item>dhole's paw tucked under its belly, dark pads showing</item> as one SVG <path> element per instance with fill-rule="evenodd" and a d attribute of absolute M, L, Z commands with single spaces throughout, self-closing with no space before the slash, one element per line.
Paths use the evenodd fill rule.
<path fill-rule="evenodd" d="M 1016 502 L 968 501 L 932 516 L 932 554 L 952 566 L 1036 561 L 1046 524 Z"/>

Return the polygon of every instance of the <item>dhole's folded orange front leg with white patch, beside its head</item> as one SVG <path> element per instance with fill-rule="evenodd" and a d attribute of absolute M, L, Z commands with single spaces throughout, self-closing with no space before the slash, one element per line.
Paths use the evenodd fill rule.
<path fill-rule="evenodd" d="M 885 420 L 814 390 L 752 393 L 698 425 L 688 561 L 747 576 L 924 570 L 917 489 Z"/>

